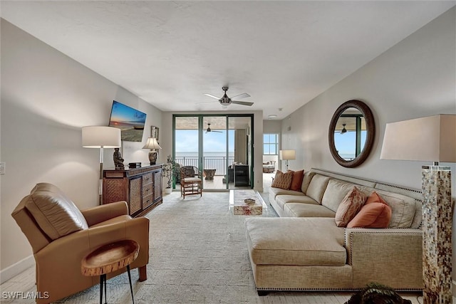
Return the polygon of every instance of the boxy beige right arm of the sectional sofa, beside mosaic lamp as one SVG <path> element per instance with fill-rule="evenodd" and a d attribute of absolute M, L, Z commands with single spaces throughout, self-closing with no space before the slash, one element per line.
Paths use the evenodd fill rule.
<path fill-rule="evenodd" d="M 423 231 L 352 228 L 345 232 L 354 288 L 375 281 L 397 290 L 423 289 Z"/>

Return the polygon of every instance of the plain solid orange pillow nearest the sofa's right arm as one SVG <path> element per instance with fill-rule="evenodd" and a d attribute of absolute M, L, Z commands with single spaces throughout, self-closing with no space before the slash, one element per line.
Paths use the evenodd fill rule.
<path fill-rule="evenodd" d="M 348 228 L 388 228 L 391 207 L 377 192 L 372 192 L 361 210 L 348 223 Z"/>

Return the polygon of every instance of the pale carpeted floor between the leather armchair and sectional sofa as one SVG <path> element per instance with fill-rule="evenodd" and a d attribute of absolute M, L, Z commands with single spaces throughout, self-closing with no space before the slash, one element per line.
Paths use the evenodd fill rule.
<path fill-rule="evenodd" d="M 267 193 L 263 193 L 266 203 Z M 147 214 L 150 219 L 150 261 L 147 281 L 132 271 L 135 303 L 345 303 L 353 293 L 273 292 L 259 297 L 254 285 L 244 232 L 246 216 L 228 210 L 229 192 L 202 197 L 179 192 Z M 269 206 L 268 216 L 276 216 Z M 56 270 L 58 271 L 58 270 Z M 34 291 L 34 268 L 1 285 L 1 291 Z M 417 293 L 402 293 L 422 303 Z M 98 303 L 95 285 L 58 303 Z M 1 300 L 33 303 L 33 300 Z M 131 303 L 128 276 L 108 280 L 108 303 Z"/>

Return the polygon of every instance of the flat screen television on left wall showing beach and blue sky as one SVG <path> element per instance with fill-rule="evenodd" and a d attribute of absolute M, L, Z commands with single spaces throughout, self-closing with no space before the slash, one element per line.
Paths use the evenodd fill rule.
<path fill-rule="evenodd" d="M 111 116 L 109 118 L 110 127 L 118 127 L 122 140 L 128 142 L 141 142 L 142 132 L 145 125 L 144 112 L 130 108 L 128 105 L 113 100 Z"/>

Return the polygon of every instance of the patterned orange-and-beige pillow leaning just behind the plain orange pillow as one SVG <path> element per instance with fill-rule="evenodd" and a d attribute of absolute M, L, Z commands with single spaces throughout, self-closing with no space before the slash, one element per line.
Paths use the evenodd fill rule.
<path fill-rule="evenodd" d="M 343 198 L 336 211 L 336 225 L 346 227 L 347 224 L 356 216 L 358 211 L 366 201 L 366 194 L 353 187 Z"/>

